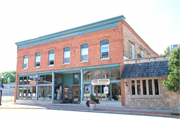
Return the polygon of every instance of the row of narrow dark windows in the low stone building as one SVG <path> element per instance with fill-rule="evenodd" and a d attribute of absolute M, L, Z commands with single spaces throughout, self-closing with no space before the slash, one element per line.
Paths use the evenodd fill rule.
<path fill-rule="evenodd" d="M 158 79 L 131 80 L 131 95 L 159 95 Z"/>

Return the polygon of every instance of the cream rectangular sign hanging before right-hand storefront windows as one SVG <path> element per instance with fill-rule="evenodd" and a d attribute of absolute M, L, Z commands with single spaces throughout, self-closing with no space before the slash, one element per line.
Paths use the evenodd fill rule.
<path fill-rule="evenodd" d="M 110 79 L 93 79 L 91 81 L 92 85 L 109 85 Z"/>

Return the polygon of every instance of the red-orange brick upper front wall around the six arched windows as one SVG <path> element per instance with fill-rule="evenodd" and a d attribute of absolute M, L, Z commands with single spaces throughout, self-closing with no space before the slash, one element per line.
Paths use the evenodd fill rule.
<path fill-rule="evenodd" d="M 41 45 L 18 49 L 17 73 L 95 66 L 123 62 L 122 27 L 98 31 Z M 109 40 L 109 60 L 100 60 L 100 41 Z M 88 43 L 89 62 L 80 63 L 81 45 Z M 63 48 L 70 47 L 70 64 L 63 65 Z M 54 66 L 48 66 L 48 51 L 54 50 Z M 41 66 L 35 68 L 35 53 L 41 53 Z M 23 56 L 28 55 L 28 69 L 23 68 Z"/>

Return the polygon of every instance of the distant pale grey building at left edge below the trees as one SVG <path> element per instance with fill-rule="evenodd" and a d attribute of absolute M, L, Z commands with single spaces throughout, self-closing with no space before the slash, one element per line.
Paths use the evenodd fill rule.
<path fill-rule="evenodd" d="M 2 91 L 3 96 L 14 96 L 15 83 L 3 84 L 4 89 Z"/>

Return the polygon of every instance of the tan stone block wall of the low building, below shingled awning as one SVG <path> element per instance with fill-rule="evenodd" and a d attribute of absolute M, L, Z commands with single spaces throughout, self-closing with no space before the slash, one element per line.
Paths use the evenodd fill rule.
<path fill-rule="evenodd" d="M 165 89 L 162 85 L 162 79 L 159 78 L 158 81 L 159 95 L 139 97 L 131 95 L 131 79 L 126 79 L 125 82 L 128 83 L 128 86 L 125 87 L 126 108 L 180 110 L 180 94 Z"/>

